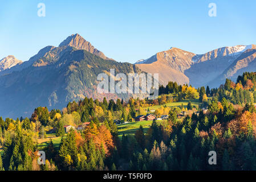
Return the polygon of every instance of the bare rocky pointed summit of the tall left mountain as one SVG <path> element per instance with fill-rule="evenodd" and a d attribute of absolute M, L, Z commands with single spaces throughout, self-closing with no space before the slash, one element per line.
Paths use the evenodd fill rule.
<path fill-rule="evenodd" d="M 103 59 L 108 59 L 108 57 L 106 57 L 103 52 L 94 48 L 94 46 L 92 46 L 90 42 L 87 42 L 87 40 L 85 40 L 79 34 L 72 34 L 68 36 L 67 39 L 65 39 L 62 43 L 59 44 L 59 47 L 62 47 L 62 46 L 71 46 L 77 49 L 83 49 Z"/>

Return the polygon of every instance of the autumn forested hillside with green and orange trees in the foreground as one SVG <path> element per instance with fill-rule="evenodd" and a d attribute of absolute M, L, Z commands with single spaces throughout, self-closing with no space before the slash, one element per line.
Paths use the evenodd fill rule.
<path fill-rule="evenodd" d="M 86 97 L 63 110 L 37 107 L 30 118 L 1 117 L 0 170 L 255 170 L 255 75 L 244 73 L 218 89 L 169 82 L 156 100 Z M 201 105 L 166 106 L 188 99 Z M 126 122 L 147 113 L 168 118 L 119 136 Z M 39 166 L 42 142 L 47 160 Z M 216 165 L 208 163 L 209 151 L 217 152 Z"/>

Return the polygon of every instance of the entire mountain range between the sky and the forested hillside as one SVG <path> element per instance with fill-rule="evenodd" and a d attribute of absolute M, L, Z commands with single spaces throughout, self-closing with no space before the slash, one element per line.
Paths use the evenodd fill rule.
<path fill-rule="evenodd" d="M 1 60 L 0 116 L 30 117 L 38 106 L 62 109 L 84 97 L 103 100 L 140 97 L 133 94 L 97 93 L 97 75 L 159 73 L 160 84 L 177 81 L 193 86 L 219 86 L 225 78 L 256 71 L 256 46 L 222 47 L 202 55 L 170 48 L 136 64 L 108 59 L 82 36 L 68 36 L 58 47 L 47 46 L 28 61 L 13 56 Z M 116 80 L 117 82 L 118 80 Z M 144 95 L 141 95 L 143 97 Z"/>

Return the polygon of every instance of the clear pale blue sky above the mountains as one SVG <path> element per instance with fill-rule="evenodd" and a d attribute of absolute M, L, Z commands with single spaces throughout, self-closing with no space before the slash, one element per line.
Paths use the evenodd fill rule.
<path fill-rule="evenodd" d="M 40 2 L 46 17 L 37 15 Z M 208 16 L 211 2 L 217 17 Z M 205 53 L 256 44 L 255 7 L 255 0 L 1 1 L 0 59 L 27 61 L 75 33 L 106 56 L 130 63 L 170 47 Z"/>

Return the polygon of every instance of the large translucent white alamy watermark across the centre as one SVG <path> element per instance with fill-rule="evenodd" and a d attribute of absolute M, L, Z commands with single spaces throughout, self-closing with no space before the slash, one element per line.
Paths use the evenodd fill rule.
<path fill-rule="evenodd" d="M 97 81 L 100 81 L 97 85 L 97 92 L 117 94 L 147 94 L 149 99 L 154 99 L 159 96 L 158 80 L 158 73 L 155 73 L 153 77 L 151 73 L 129 73 L 127 82 L 127 75 L 124 73 L 115 75 L 115 69 L 110 69 L 109 74 L 100 73 L 97 76 Z"/>

